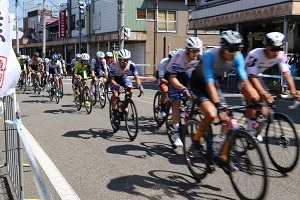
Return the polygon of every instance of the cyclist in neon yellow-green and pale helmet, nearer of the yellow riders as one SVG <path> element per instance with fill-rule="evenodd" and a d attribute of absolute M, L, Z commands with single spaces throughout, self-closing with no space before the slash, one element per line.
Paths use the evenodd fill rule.
<path fill-rule="evenodd" d="M 82 79 L 87 79 L 87 71 L 89 68 L 90 55 L 83 53 L 81 55 L 81 60 L 76 61 L 74 67 L 74 78 L 75 78 L 75 89 L 74 89 L 74 98 L 77 95 L 77 87 L 79 87 Z"/>

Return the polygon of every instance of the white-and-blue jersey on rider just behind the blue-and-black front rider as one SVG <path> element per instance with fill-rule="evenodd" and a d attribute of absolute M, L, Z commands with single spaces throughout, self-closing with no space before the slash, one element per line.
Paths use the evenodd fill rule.
<path fill-rule="evenodd" d="M 198 62 L 202 55 L 199 54 L 197 60 L 189 61 L 186 57 L 185 52 L 185 50 L 180 50 L 171 58 L 166 67 L 167 71 L 170 72 L 171 75 L 185 73 L 186 71 L 191 74 L 195 67 L 198 65 Z"/>

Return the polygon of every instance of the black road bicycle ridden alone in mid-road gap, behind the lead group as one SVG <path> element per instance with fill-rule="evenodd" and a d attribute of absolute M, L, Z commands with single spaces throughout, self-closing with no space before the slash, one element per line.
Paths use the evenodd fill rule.
<path fill-rule="evenodd" d="M 128 136 L 131 141 L 133 141 L 138 133 L 138 114 L 136 110 L 136 106 L 133 102 L 133 100 L 129 97 L 129 92 L 132 89 L 139 89 L 137 87 L 134 88 L 125 88 L 124 93 L 125 97 L 122 100 L 120 98 L 120 92 L 118 93 L 117 96 L 117 115 L 118 115 L 118 120 L 115 119 L 113 109 L 112 109 L 112 98 L 110 99 L 110 104 L 109 104 L 109 117 L 110 117 L 110 123 L 113 128 L 114 133 L 116 133 L 121 126 L 121 121 L 125 121 L 125 127 L 126 131 L 128 133 Z M 143 92 L 140 91 L 138 97 L 141 97 Z"/>

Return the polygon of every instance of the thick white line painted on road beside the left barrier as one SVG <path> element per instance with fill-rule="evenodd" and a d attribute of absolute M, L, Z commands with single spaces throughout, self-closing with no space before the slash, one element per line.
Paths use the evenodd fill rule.
<path fill-rule="evenodd" d="M 39 145 L 39 143 L 34 139 L 34 137 L 30 134 L 30 132 L 23 124 L 21 125 L 21 128 L 33 151 L 36 160 L 40 163 L 41 167 L 43 168 L 45 174 L 49 178 L 60 198 L 62 200 L 79 200 L 80 198 L 77 196 L 73 188 L 67 182 L 65 177 L 60 173 L 55 164 Z"/>

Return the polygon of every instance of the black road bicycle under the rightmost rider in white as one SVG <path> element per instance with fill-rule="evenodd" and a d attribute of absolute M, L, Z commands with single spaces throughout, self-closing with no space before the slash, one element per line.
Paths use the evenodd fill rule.
<path fill-rule="evenodd" d="M 290 95 L 277 95 L 274 99 L 292 99 Z M 295 109 L 299 106 L 299 101 L 294 101 L 290 109 Z M 256 109 L 260 112 L 262 104 L 258 104 Z M 240 124 L 240 128 L 247 130 L 246 118 L 244 112 L 247 107 L 244 106 L 233 110 L 233 114 Z M 253 107 L 253 106 L 252 106 Z M 265 128 L 264 141 L 268 156 L 278 171 L 281 173 L 291 172 L 299 160 L 299 136 L 295 128 L 293 120 L 284 113 L 276 111 L 275 102 L 268 104 L 269 108 L 268 115 L 262 118 L 263 120 L 259 123 L 256 128 L 256 135 L 262 134 Z"/>

